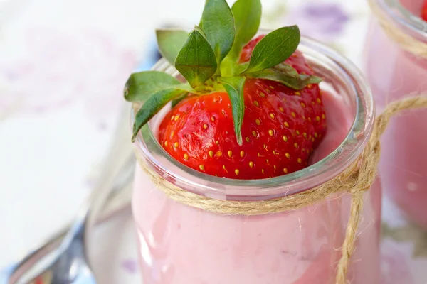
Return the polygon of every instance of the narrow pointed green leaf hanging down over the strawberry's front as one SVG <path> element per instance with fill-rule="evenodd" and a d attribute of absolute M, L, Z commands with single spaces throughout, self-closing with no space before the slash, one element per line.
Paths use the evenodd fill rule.
<path fill-rule="evenodd" d="M 231 101 L 231 111 L 233 113 L 234 132 L 236 133 L 237 143 L 242 145 L 242 124 L 245 114 L 245 100 L 243 97 L 243 87 L 245 86 L 245 77 L 220 77 L 219 82 L 223 83 L 224 89 L 228 93 Z"/>

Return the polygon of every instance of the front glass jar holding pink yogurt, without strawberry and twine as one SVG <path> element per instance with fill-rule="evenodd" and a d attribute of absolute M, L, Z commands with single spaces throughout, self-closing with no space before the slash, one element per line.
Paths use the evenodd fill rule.
<path fill-rule="evenodd" d="M 342 173 L 371 134 L 371 92 L 357 68 L 338 53 L 308 38 L 302 38 L 299 49 L 317 75 L 325 78 L 322 90 L 339 99 L 342 113 L 349 116 L 348 127 L 335 121 L 347 129 L 327 157 L 304 170 L 263 180 L 199 173 L 177 163 L 157 142 L 156 129 L 165 108 L 139 133 L 135 143 L 139 158 L 177 187 L 218 200 L 283 197 Z M 335 107 L 330 105 L 327 114 Z M 365 193 L 364 202 L 354 253 L 357 261 L 349 273 L 353 284 L 379 283 L 379 180 Z M 132 209 L 144 284 L 335 283 L 349 207 L 350 196 L 341 193 L 290 212 L 250 217 L 214 214 L 169 199 L 137 165 Z"/>

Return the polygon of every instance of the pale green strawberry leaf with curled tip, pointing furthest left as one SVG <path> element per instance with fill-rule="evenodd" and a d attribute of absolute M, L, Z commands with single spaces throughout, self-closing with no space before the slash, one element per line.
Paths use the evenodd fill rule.
<path fill-rule="evenodd" d="M 183 84 L 165 72 L 144 71 L 130 75 L 125 84 L 124 94 L 128 102 L 145 102 L 152 94 L 164 89 L 191 92 L 189 84 Z"/>

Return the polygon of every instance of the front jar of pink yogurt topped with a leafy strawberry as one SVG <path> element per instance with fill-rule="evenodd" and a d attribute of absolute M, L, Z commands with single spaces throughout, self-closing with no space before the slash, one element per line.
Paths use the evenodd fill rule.
<path fill-rule="evenodd" d="M 338 175 L 354 158 L 345 155 L 363 146 L 356 137 L 369 136 L 353 135 L 354 125 L 369 132 L 373 116 L 354 107 L 369 99 L 365 86 L 353 82 L 360 92 L 352 93 L 342 85 L 349 76 L 323 69 L 325 76 L 316 73 L 328 92 L 320 89 L 304 52 L 317 43 L 300 45 L 297 26 L 255 36 L 260 13 L 259 0 L 232 8 L 206 1 L 191 33 L 157 31 L 179 75 L 155 70 L 127 81 L 125 99 L 139 109 L 137 155 L 181 189 L 241 201 L 292 195 Z M 321 169 L 327 177 L 315 175 Z M 379 283 L 380 194 L 379 183 L 367 194 L 352 283 Z M 132 209 L 144 284 L 335 283 L 349 201 L 334 196 L 251 217 L 214 214 L 169 199 L 137 165 Z"/>

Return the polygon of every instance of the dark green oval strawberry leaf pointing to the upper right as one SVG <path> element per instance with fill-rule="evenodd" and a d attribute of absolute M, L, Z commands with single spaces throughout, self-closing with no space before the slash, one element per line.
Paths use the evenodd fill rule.
<path fill-rule="evenodd" d="M 264 70 L 285 61 L 297 50 L 300 38 L 298 26 L 278 28 L 268 33 L 255 45 L 245 73 Z"/>

